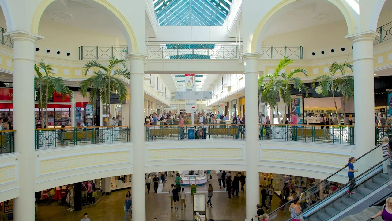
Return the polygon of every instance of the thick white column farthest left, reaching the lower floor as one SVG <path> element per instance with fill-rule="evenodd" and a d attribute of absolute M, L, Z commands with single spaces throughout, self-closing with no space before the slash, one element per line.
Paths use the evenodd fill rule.
<path fill-rule="evenodd" d="M 14 219 L 35 220 L 34 161 L 34 48 L 35 42 L 44 37 L 26 31 L 11 31 L 14 42 L 14 129 L 15 152 L 20 152 L 18 176 L 21 182 L 19 197 L 15 198 Z M 27 97 L 26 97 L 27 95 Z M 29 97 L 30 96 L 30 97 Z M 27 107 L 27 109 L 26 109 Z M 22 180 L 28 180 L 24 182 Z"/>

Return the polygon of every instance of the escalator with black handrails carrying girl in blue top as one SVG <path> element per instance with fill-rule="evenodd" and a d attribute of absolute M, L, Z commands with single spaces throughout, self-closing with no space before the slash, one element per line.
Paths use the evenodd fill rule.
<path fill-rule="evenodd" d="M 348 196 L 347 190 L 353 180 L 348 180 L 347 166 L 339 169 L 321 182 L 314 184 L 306 191 L 296 193 L 295 195 L 300 198 L 299 206 L 301 207 L 301 213 L 296 217 L 287 218 L 286 214 L 290 214 L 290 204 L 293 200 L 288 200 L 290 193 L 282 191 L 281 198 L 287 203 L 272 211 L 269 214 L 270 220 L 291 221 L 292 219 L 301 219 L 302 217 L 310 221 L 330 219 L 388 181 L 386 176 L 381 173 L 385 160 L 387 159 L 382 157 L 381 145 L 356 158 L 354 169 L 358 169 L 356 174 L 360 175 L 354 178 L 356 185 L 352 192 L 355 192 L 355 194 L 352 194 L 351 197 Z M 377 163 L 374 164 L 372 162 Z M 369 166 L 370 169 L 368 169 Z M 333 180 L 340 180 L 342 177 L 347 177 L 348 182 L 333 191 Z M 287 188 L 287 190 L 290 191 L 290 188 Z"/>

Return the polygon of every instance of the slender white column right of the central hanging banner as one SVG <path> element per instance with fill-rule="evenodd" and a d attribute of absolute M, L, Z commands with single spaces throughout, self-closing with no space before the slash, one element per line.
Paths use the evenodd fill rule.
<path fill-rule="evenodd" d="M 260 203 L 259 198 L 259 173 L 258 173 L 258 70 L 257 63 L 259 53 L 242 54 L 245 59 L 245 121 L 246 123 L 246 220 L 254 218 L 256 205 Z"/>

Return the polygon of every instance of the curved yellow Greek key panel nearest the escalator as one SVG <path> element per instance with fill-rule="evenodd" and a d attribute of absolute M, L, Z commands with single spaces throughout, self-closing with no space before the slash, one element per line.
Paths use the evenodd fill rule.
<path fill-rule="evenodd" d="M 260 148 L 260 161 L 285 161 L 336 167 L 344 166 L 349 157 L 350 156 L 348 155 L 337 155 L 332 153 L 314 153 L 307 151 L 290 151 Z"/>

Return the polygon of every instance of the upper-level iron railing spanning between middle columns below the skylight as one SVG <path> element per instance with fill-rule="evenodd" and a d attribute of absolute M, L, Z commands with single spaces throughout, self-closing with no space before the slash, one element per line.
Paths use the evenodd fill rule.
<path fill-rule="evenodd" d="M 214 48 L 166 48 L 147 46 L 147 59 L 239 59 L 240 46 Z"/>

